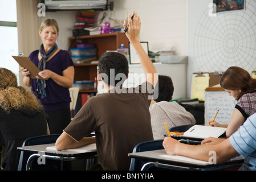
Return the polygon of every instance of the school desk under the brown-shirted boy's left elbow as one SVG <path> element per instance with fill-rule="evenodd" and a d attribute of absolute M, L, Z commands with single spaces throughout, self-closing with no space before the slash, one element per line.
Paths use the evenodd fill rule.
<path fill-rule="evenodd" d="M 39 144 L 35 146 L 25 146 L 25 147 L 17 147 L 18 150 L 24 152 L 35 152 L 37 154 L 32 154 L 27 160 L 26 171 L 31 170 L 31 164 L 34 159 L 45 158 L 51 160 L 60 160 L 61 170 L 63 170 L 63 162 L 64 161 L 72 161 L 72 160 L 82 160 L 82 159 L 92 159 L 96 158 L 96 145 L 94 146 L 84 146 L 83 148 L 78 148 L 79 150 L 64 150 L 64 151 L 56 151 L 49 149 L 49 147 L 55 146 L 55 143 L 50 144 Z"/>

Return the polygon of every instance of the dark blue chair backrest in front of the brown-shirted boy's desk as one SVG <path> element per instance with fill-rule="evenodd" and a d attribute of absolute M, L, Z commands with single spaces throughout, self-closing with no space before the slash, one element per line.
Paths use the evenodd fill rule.
<path fill-rule="evenodd" d="M 59 136 L 60 136 L 60 134 L 51 134 L 51 135 L 40 135 L 40 136 L 37 136 L 37 137 L 31 137 L 31 138 L 26 139 L 23 142 L 22 147 L 34 146 L 34 145 L 37 145 L 37 144 L 55 143 L 56 139 Z M 21 155 L 19 157 L 18 171 L 25 171 L 27 159 L 29 159 L 29 156 L 31 154 L 35 154 L 35 152 L 32 153 L 32 152 L 21 151 Z"/>

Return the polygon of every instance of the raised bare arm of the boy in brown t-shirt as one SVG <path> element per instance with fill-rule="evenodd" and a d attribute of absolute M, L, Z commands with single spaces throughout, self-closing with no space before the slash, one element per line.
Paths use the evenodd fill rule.
<path fill-rule="evenodd" d="M 153 65 L 151 59 L 149 59 L 144 48 L 141 46 L 141 43 L 139 40 L 140 26 L 141 26 L 140 17 L 138 16 L 137 13 L 135 13 L 135 11 L 133 11 L 133 13 L 135 14 L 135 16 L 133 17 L 133 20 L 131 19 L 131 15 L 128 16 L 129 28 L 125 34 L 129 39 L 129 41 L 131 42 L 132 46 L 135 48 L 137 55 L 139 56 L 141 66 L 146 75 L 146 80 L 148 82 L 151 82 L 151 84 L 155 87 L 158 80 L 156 68 Z M 124 28 L 126 26 L 127 26 L 127 22 L 124 21 Z"/>

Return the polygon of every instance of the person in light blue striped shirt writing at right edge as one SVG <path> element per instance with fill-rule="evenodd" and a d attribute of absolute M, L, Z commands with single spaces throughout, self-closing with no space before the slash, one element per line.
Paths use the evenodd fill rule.
<path fill-rule="evenodd" d="M 240 170 L 256 170 L 256 114 L 246 119 L 227 139 L 207 138 L 202 140 L 201 145 L 189 145 L 178 142 L 178 140 L 166 137 L 162 145 L 167 154 L 182 155 L 190 158 L 209 161 L 212 155 L 210 151 L 216 152 L 216 162 L 221 164 L 235 156 L 245 156 L 245 162 Z"/>

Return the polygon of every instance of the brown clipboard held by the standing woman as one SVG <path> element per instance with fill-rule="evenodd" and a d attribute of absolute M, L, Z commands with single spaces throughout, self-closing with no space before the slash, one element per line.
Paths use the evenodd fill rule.
<path fill-rule="evenodd" d="M 29 59 L 29 57 L 23 56 L 12 56 L 21 67 L 26 68 L 30 71 L 30 77 L 33 79 L 47 80 L 38 75 L 40 70 L 36 65 Z"/>

